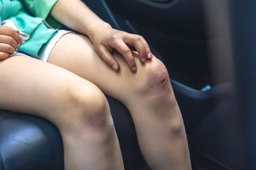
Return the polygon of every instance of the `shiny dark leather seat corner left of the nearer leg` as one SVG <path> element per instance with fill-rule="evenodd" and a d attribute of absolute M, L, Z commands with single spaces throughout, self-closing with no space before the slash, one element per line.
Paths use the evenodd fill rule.
<path fill-rule="evenodd" d="M 0 170 L 63 170 L 58 129 L 31 115 L 0 111 Z"/>

